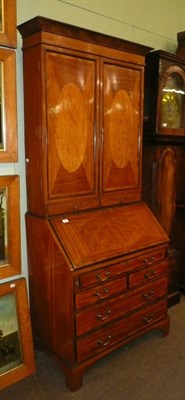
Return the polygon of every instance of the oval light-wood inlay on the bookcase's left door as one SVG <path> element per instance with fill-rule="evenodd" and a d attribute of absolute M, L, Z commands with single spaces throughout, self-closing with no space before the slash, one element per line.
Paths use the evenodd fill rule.
<path fill-rule="evenodd" d="M 55 120 L 55 141 L 63 167 L 75 172 L 81 165 L 87 142 L 87 118 L 80 89 L 69 83 L 61 91 Z"/>

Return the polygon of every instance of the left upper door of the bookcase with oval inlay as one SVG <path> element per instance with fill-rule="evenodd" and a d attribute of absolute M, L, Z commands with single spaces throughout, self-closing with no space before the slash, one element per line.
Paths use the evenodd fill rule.
<path fill-rule="evenodd" d="M 46 53 L 48 198 L 61 200 L 60 212 L 98 204 L 97 66 L 80 53 Z"/>

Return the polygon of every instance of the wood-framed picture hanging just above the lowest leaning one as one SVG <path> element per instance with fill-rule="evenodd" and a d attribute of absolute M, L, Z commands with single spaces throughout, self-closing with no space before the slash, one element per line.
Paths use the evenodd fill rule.
<path fill-rule="evenodd" d="M 0 279 L 21 273 L 19 176 L 0 176 Z"/>

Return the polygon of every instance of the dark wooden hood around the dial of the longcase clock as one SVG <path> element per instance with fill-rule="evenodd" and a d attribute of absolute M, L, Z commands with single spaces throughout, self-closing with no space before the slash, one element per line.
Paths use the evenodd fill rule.
<path fill-rule="evenodd" d="M 181 93 L 179 125 L 164 126 L 162 100 L 168 80 L 176 80 Z M 180 84 L 179 84 L 180 83 Z M 175 87 L 172 88 L 171 93 Z M 185 58 L 162 50 L 151 51 L 146 56 L 144 94 L 144 140 L 154 142 L 185 141 Z M 172 111 L 173 112 L 173 111 Z"/>

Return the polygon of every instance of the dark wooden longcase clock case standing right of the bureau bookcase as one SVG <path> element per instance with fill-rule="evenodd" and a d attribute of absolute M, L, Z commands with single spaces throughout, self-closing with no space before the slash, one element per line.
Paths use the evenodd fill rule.
<path fill-rule="evenodd" d="M 184 91 L 185 57 L 155 50 L 149 52 L 145 60 L 142 198 L 170 238 L 170 307 L 180 301 L 181 270 L 184 270 L 181 267 L 184 245 L 180 243 L 183 230 L 179 227 L 179 202 L 184 193 L 185 103 L 182 95 L 180 126 L 164 127 L 162 97 L 171 76 L 181 82 Z"/>

